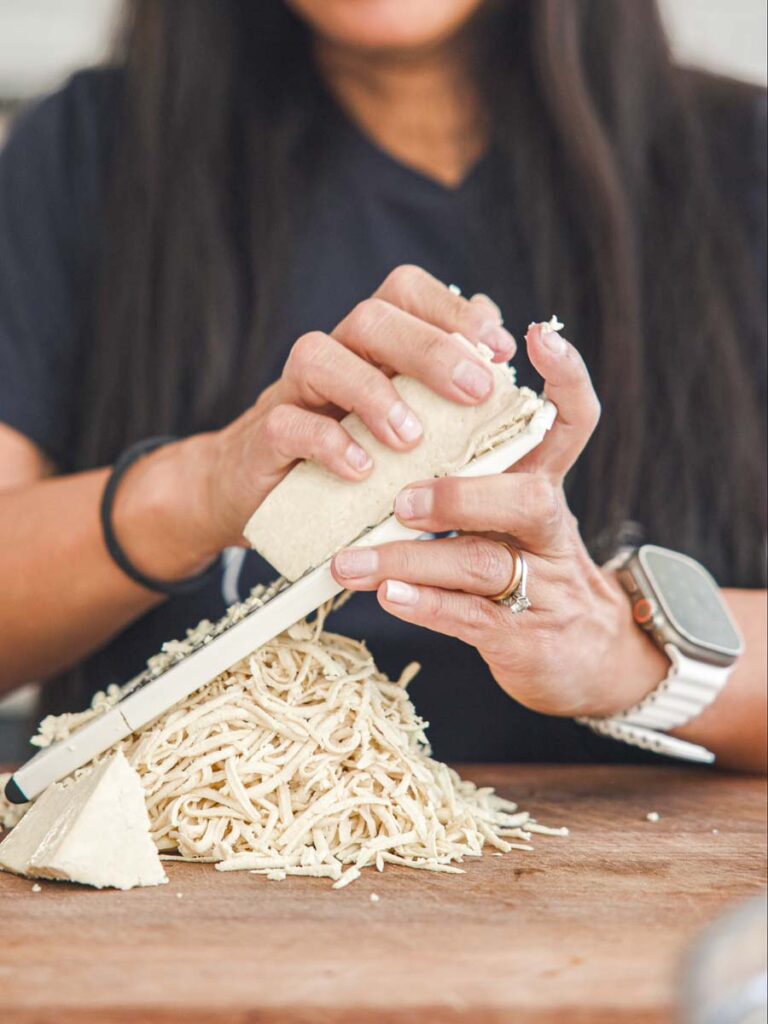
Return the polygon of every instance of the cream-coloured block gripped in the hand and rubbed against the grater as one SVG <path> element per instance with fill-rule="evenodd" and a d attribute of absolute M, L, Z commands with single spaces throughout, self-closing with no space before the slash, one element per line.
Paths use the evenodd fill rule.
<path fill-rule="evenodd" d="M 251 547 L 287 580 L 298 580 L 391 515 L 406 484 L 445 476 L 495 441 L 523 430 L 542 399 L 515 386 L 512 368 L 489 366 L 494 391 L 479 406 L 450 401 L 410 377 L 393 378 L 424 427 L 419 444 L 412 452 L 394 452 L 350 413 L 341 422 L 373 458 L 371 475 L 350 482 L 316 463 L 299 463 L 249 519 L 244 534 Z"/>

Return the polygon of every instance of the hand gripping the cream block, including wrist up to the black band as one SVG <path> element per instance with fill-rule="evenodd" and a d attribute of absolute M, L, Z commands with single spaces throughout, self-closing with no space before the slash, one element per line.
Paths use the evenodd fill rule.
<path fill-rule="evenodd" d="M 415 447 L 422 425 L 394 389 L 393 373 L 460 404 L 482 401 L 493 375 L 457 335 L 487 345 L 498 361 L 515 351 L 486 296 L 465 299 L 420 267 L 396 267 L 331 334 L 299 338 L 281 378 L 237 420 L 131 467 L 113 510 L 131 562 L 150 577 L 175 580 L 245 545 L 246 522 L 300 459 L 365 479 L 373 463 L 339 422 L 346 413 L 395 451 Z"/>

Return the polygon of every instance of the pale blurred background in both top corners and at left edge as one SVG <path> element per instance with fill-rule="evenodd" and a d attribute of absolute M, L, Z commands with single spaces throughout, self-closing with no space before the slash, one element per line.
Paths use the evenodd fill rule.
<path fill-rule="evenodd" d="M 631 3 L 634 0 L 626 0 Z M 659 0 L 681 63 L 766 82 L 766 0 Z M 108 53 L 120 0 L 0 0 L 0 140 L 13 113 Z M 28 757 L 33 687 L 0 700 L 0 750 Z"/>

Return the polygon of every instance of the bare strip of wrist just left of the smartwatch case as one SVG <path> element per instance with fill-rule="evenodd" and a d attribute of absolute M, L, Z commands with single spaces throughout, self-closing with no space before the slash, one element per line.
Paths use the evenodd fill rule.
<path fill-rule="evenodd" d="M 627 592 L 614 572 L 601 569 L 605 584 L 605 620 L 609 642 L 599 671 L 600 691 L 582 714 L 607 718 L 627 711 L 651 693 L 667 677 L 670 662 L 632 617 Z"/>

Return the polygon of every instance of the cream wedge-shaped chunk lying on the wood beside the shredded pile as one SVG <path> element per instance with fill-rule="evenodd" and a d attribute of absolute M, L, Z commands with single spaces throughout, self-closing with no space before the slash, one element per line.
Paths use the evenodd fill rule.
<path fill-rule="evenodd" d="M 141 781 L 120 751 L 77 781 L 49 786 L 0 843 L 0 868 L 96 889 L 168 881 Z"/>

